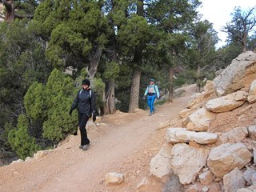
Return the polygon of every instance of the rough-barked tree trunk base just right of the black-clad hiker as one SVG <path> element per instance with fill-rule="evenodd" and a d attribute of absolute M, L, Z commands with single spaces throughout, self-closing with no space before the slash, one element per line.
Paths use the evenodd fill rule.
<path fill-rule="evenodd" d="M 114 114 L 114 80 L 107 83 L 106 101 L 104 107 L 104 114 Z"/>

